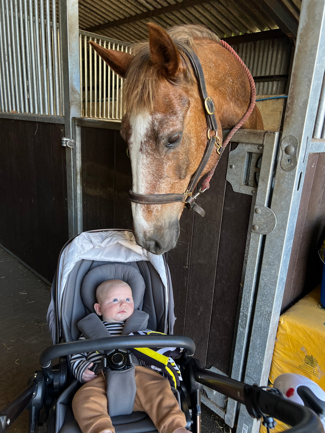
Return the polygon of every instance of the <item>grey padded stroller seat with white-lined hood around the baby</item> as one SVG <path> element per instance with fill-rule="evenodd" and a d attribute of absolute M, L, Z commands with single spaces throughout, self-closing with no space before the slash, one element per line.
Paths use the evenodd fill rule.
<path fill-rule="evenodd" d="M 107 230 L 93 233 L 94 237 L 91 237 L 91 233 L 81 233 L 62 249 L 57 275 L 52 285 L 52 300 L 48 312 L 53 342 L 68 343 L 78 340 L 81 332 L 77 323 L 88 314 L 95 312 L 96 288 L 108 279 L 121 279 L 130 285 L 134 310 L 139 313 L 136 320 L 131 320 L 132 315 L 126 321 L 122 335 L 144 329 L 136 329 L 140 313 L 146 317 L 149 314 L 147 329 L 166 334 L 172 333 L 175 317 L 170 275 L 165 259 L 162 256 L 150 257 L 150 253 L 130 242 L 130 237 L 133 235 L 129 232 Z M 91 246 L 87 252 L 83 251 L 82 237 L 87 242 L 91 238 L 91 245 L 85 242 L 84 248 Z M 75 249 L 82 251 L 75 254 Z M 83 258 L 80 258 L 81 256 Z M 71 266 L 71 257 L 73 257 L 73 266 Z M 71 375 L 71 355 L 67 358 Z M 78 381 L 73 380 L 59 395 L 55 402 L 55 410 L 52 411 L 54 420 L 51 424 L 55 425 L 52 433 L 81 432 L 71 410 L 72 398 L 80 386 Z M 173 392 L 181 405 L 179 391 L 173 389 Z M 185 407 L 186 404 L 182 406 Z M 187 418 L 187 427 L 190 427 L 189 414 Z M 156 432 L 153 422 L 145 412 L 112 417 L 112 423 L 117 433 Z"/>

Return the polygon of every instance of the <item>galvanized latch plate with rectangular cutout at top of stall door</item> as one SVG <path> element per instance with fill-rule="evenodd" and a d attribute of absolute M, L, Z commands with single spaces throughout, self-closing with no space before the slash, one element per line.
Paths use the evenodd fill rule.
<path fill-rule="evenodd" d="M 260 176 L 263 145 L 239 143 L 229 152 L 226 179 L 235 192 L 255 195 Z"/>

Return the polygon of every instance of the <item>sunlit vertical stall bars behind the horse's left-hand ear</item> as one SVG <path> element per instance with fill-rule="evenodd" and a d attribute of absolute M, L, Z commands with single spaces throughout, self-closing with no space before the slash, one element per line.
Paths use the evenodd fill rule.
<path fill-rule="evenodd" d="M 120 120 L 123 78 L 110 69 L 89 41 L 123 52 L 131 52 L 131 48 L 125 42 L 79 31 L 81 116 Z"/>

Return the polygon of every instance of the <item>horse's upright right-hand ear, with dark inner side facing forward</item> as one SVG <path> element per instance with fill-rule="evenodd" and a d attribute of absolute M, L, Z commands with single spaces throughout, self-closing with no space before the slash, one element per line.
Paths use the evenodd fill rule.
<path fill-rule="evenodd" d="M 173 79 L 179 74 L 181 59 L 170 36 L 161 27 L 148 23 L 151 60 L 158 65 L 165 78 Z"/>

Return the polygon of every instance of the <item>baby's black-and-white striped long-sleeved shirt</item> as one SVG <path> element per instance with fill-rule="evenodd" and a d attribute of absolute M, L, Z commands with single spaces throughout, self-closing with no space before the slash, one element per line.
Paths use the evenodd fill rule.
<path fill-rule="evenodd" d="M 107 331 L 109 331 L 110 335 L 118 336 L 121 335 L 124 327 L 124 322 L 103 322 L 106 326 Z M 81 334 L 79 340 L 85 340 L 86 338 Z M 94 362 L 94 365 L 91 367 L 92 371 L 96 371 L 97 367 L 101 362 L 101 358 L 104 355 L 104 352 L 89 352 L 89 353 L 76 353 L 75 355 L 71 355 L 71 369 L 72 374 L 78 379 L 79 382 L 84 383 L 82 380 L 82 375 L 84 370 L 88 367 L 91 362 Z"/>

